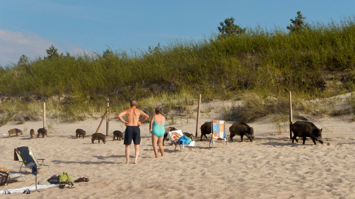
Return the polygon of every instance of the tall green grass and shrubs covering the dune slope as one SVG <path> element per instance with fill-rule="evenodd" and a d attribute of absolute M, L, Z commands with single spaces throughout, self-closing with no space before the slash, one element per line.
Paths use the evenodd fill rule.
<path fill-rule="evenodd" d="M 182 104 L 180 111 L 191 115 L 193 111 L 186 109 L 186 104 L 194 103 L 189 99 L 191 93 L 202 93 L 209 100 L 229 99 L 240 90 L 269 96 L 289 90 L 311 97 L 337 95 L 353 91 L 355 86 L 354 19 L 347 17 L 339 24 L 313 23 L 309 29 L 291 34 L 257 27 L 242 36 L 173 40 L 149 52 L 37 58 L 0 67 L 0 96 L 69 94 L 73 97 L 63 104 L 65 115 L 61 116 L 80 120 L 84 113 L 104 110 L 98 102 L 107 98 L 117 111 L 131 99 L 142 99 L 149 112 L 156 103 L 149 101 L 152 96 L 160 96 L 162 101 L 170 97 L 166 93 L 188 93 L 186 98 L 171 96 L 175 100 L 162 104 L 169 110 L 180 106 L 170 103 Z M 271 109 L 260 111 L 263 115 Z M 6 114 L 12 117 L 10 112 Z"/>

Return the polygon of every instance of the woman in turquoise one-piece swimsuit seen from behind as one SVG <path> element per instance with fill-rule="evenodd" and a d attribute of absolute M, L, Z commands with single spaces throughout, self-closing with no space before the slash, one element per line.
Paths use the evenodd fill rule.
<path fill-rule="evenodd" d="M 160 153 L 162 154 L 162 157 L 164 156 L 163 138 L 165 133 L 165 117 L 162 115 L 162 112 L 163 108 L 155 108 L 155 115 L 152 116 L 151 123 L 149 124 L 149 132 L 152 133 L 152 144 L 155 158 L 158 158 L 157 142 Z"/>

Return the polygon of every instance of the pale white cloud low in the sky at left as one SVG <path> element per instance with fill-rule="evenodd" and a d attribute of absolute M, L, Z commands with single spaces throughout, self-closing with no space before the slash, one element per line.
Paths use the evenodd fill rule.
<path fill-rule="evenodd" d="M 51 45 L 58 49 L 58 53 L 63 54 L 69 52 L 71 55 L 76 55 L 83 51 L 91 52 L 90 50 L 84 50 L 78 44 L 72 44 L 67 41 L 60 41 L 59 43 L 62 44 L 61 48 L 58 48 L 58 42 L 32 32 L 12 32 L 0 29 L 0 65 L 5 67 L 7 65 L 11 66 L 11 63 L 16 64 L 22 55 L 26 55 L 30 60 L 39 56 L 47 56 L 45 50 Z"/>

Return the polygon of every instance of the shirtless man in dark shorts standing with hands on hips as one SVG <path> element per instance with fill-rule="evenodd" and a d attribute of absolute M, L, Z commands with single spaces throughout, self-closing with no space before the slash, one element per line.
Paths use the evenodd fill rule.
<path fill-rule="evenodd" d="M 137 101 L 131 101 L 131 108 L 122 111 L 117 115 L 118 119 L 123 122 L 126 126 L 124 142 L 126 146 L 126 164 L 130 164 L 130 148 L 133 139 L 134 148 L 135 148 L 135 159 L 133 164 L 137 164 L 138 154 L 139 154 L 139 144 L 141 143 L 141 130 L 139 127 L 141 124 L 148 119 L 148 115 L 145 114 L 142 110 L 137 109 Z M 122 116 L 126 115 L 127 120 L 124 120 Z M 143 119 L 139 120 L 139 116 L 142 116 Z"/>

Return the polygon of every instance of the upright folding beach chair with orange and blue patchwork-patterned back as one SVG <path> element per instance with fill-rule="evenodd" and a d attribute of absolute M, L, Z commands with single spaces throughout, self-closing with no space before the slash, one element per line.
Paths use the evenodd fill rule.
<path fill-rule="evenodd" d="M 225 121 L 223 120 L 213 120 L 212 121 L 212 132 L 211 141 L 209 142 L 209 147 L 214 147 L 215 142 L 226 142 L 225 145 L 228 149 L 228 136 L 225 134 Z"/>

